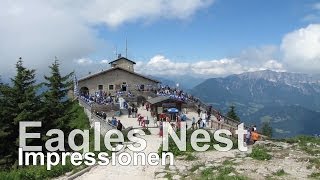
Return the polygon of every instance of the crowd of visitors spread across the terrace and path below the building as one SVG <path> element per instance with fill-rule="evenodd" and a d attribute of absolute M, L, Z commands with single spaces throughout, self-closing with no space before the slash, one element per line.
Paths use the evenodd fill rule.
<path fill-rule="evenodd" d="M 207 105 L 200 105 L 201 102 L 199 99 L 194 98 L 192 95 L 178 89 L 178 88 L 171 88 L 169 86 L 161 86 L 158 89 L 151 89 L 157 96 L 168 96 L 170 98 L 174 98 L 180 101 L 184 102 L 193 102 L 193 103 L 198 103 L 198 119 L 195 117 L 192 118 L 192 129 L 199 129 L 199 128 L 213 128 L 215 124 L 218 124 L 218 129 L 222 128 L 223 123 L 225 122 L 225 117 L 221 115 L 220 112 L 215 111 L 212 109 L 212 106 L 207 106 Z M 132 94 L 130 91 L 127 92 L 121 92 L 118 91 L 116 92 L 113 96 L 109 93 L 107 94 L 104 91 L 97 91 L 94 94 L 81 94 L 80 98 L 87 102 L 87 104 L 92 105 L 93 103 L 97 103 L 100 105 L 108 105 L 108 104 L 114 104 L 117 103 L 119 100 L 119 97 L 134 97 L 134 94 Z M 145 109 L 149 111 L 150 105 L 148 103 L 142 104 L 142 106 L 145 105 Z M 138 114 L 138 108 L 135 107 L 134 105 L 130 105 L 128 103 L 124 103 L 125 108 L 128 110 L 128 117 L 129 118 L 137 118 L 139 126 L 146 126 L 146 122 L 149 123 L 148 117 L 143 117 L 140 114 Z M 205 111 L 201 110 L 205 109 Z M 107 118 L 107 114 L 104 112 L 95 112 L 97 116 L 99 116 L 102 119 Z M 218 123 L 215 123 L 214 120 L 211 118 L 211 116 L 215 116 Z M 168 114 L 160 114 L 159 119 L 157 119 L 157 116 L 154 114 L 151 114 L 152 121 L 154 123 L 154 126 L 160 128 L 160 135 L 162 134 L 161 132 L 163 131 L 163 123 L 164 121 L 170 122 L 171 126 L 173 127 L 174 130 L 178 130 L 181 127 L 181 121 L 185 120 L 186 116 L 183 115 L 181 112 L 180 114 L 176 114 L 174 116 L 174 122 L 171 121 L 172 117 L 169 117 Z M 228 120 L 226 120 L 228 121 Z M 112 117 L 112 120 L 110 120 L 110 124 L 113 126 L 118 126 L 120 123 L 120 120 L 116 120 L 116 118 Z M 159 124 L 158 124 L 159 123 Z M 121 127 L 122 124 L 120 123 Z M 211 126 L 210 126 L 211 125 Z M 256 127 L 250 128 L 249 129 L 249 134 L 246 136 L 246 142 L 255 142 L 257 138 L 257 132 L 256 132 Z"/>

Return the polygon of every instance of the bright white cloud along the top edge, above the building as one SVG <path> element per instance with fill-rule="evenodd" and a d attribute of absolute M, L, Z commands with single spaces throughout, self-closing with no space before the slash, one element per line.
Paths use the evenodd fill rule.
<path fill-rule="evenodd" d="M 89 22 L 116 27 L 125 22 L 158 18 L 185 19 L 213 0 L 95 0 L 82 1 L 81 15 Z M 85 7 L 85 8 L 83 8 Z M 78 8 L 75 8 L 77 11 Z"/>

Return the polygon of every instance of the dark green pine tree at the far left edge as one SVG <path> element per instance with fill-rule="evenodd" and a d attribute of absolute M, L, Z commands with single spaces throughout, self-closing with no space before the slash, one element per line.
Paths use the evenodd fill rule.
<path fill-rule="evenodd" d="M 39 97 L 36 95 L 38 85 L 35 84 L 35 70 L 25 68 L 21 58 L 16 63 L 16 69 L 17 74 L 11 79 L 12 86 L 1 86 L 4 102 L 1 116 L 4 118 L 2 122 L 7 125 L 5 142 L 9 142 L 6 143 L 8 152 L 6 155 L 11 159 L 11 163 L 18 159 L 19 122 L 38 120 L 41 106 Z M 35 145 L 37 142 L 30 140 L 27 143 Z"/>

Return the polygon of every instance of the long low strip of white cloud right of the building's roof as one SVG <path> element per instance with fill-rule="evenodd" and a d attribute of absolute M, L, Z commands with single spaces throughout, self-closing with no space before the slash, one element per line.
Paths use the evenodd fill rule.
<path fill-rule="evenodd" d="M 283 65 L 270 59 L 254 65 L 242 64 L 240 58 L 223 58 L 219 60 L 199 60 L 190 62 L 173 62 L 163 55 L 156 55 L 148 62 L 137 62 L 136 71 L 149 75 L 193 75 L 202 77 L 216 77 L 239 74 L 247 71 L 274 70 L 285 71 Z"/>

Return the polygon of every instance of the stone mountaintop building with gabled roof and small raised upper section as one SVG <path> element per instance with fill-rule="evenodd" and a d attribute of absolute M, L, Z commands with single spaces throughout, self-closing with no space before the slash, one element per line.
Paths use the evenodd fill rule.
<path fill-rule="evenodd" d="M 93 94 L 97 91 L 115 93 L 119 91 L 144 91 L 157 88 L 159 81 L 147 76 L 138 74 L 134 71 L 134 61 L 125 57 L 109 63 L 110 69 L 90 74 L 78 80 L 78 88 L 81 93 Z"/>

